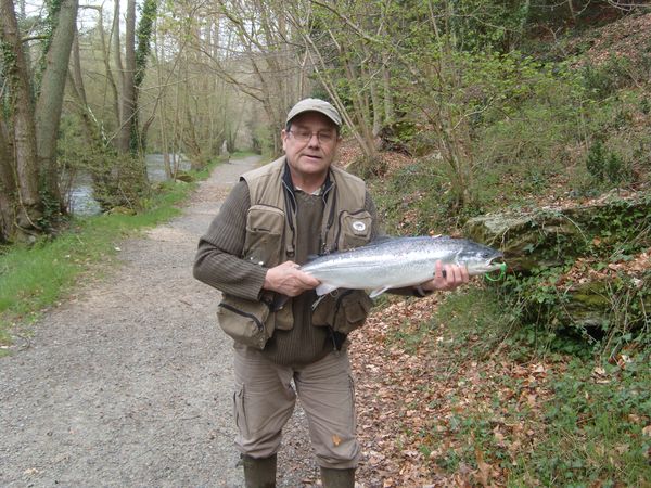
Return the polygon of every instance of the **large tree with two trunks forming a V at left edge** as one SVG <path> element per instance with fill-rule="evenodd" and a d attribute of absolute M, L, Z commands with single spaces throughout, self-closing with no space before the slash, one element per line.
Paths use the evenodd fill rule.
<path fill-rule="evenodd" d="M 62 206 L 56 139 L 77 9 L 76 0 L 62 0 L 51 8 L 44 63 L 35 82 L 13 2 L 0 2 L 1 61 L 7 80 L 0 129 L 0 184 L 7 192 L 0 205 L 0 234 L 4 240 L 47 231 L 50 215 L 46 210 L 56 214 Z"/>

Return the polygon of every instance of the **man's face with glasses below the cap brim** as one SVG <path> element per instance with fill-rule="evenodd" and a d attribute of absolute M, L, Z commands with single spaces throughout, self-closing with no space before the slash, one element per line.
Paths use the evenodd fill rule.
<path fill-rule="evenodd" d="M 299 177 L 326 176 L 339 145 L 334 124 L 318 112 L 294 117 L 281 139 L 290 169 Z"/>

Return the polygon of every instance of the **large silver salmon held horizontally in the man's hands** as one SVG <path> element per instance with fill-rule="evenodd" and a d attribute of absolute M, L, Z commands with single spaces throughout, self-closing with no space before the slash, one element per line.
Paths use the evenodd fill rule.
<path fill-rule="evenodd" d="M 318 295 L 336 288 L 387 290 L 412 286 L 434 278 L 437 260 L 465 266 L 470 275 L 496 271 L 502 253 L 467 239 L 448 236 L 390 237 L 355 249 L 320 256 L 301 267 L 321 282 Z"/>

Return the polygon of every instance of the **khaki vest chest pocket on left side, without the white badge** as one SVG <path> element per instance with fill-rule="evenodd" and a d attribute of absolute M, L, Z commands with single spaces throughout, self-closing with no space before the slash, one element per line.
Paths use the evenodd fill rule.
<path fill-rule="evenodd" d="M 279 264 L 285 215 L 270 205 L 253 205 L 246 213 L 243 258 L 272 268 Z"/>

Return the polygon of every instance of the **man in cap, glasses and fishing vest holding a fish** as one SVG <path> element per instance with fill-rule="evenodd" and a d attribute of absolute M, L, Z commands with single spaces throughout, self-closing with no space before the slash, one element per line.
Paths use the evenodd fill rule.
<path fill-rule="evenodd" d="M 219 323 L 235 339 L 235 445 L 247 488 L 276 486 L 276 453 L 296 395 L 323 486 L 355 485 L 360 449 L 346 336 L 371 301 L 342 290 L 317 299 L 319 282 L 298 269 L 309 255 L 379 234 L 363 181 L 332 166 L 341 126 L 328 102 L 294 105 L 281 132 L 285 155 L 241 177 L 199 244 L 194 277 L 224 292 Z M 468 282 L 465 268 L 443 270 L 437 262 L 431 281 L 395 293 L 424 296 Z M 280 307 L 282 296 L 291 298 Z"/>

